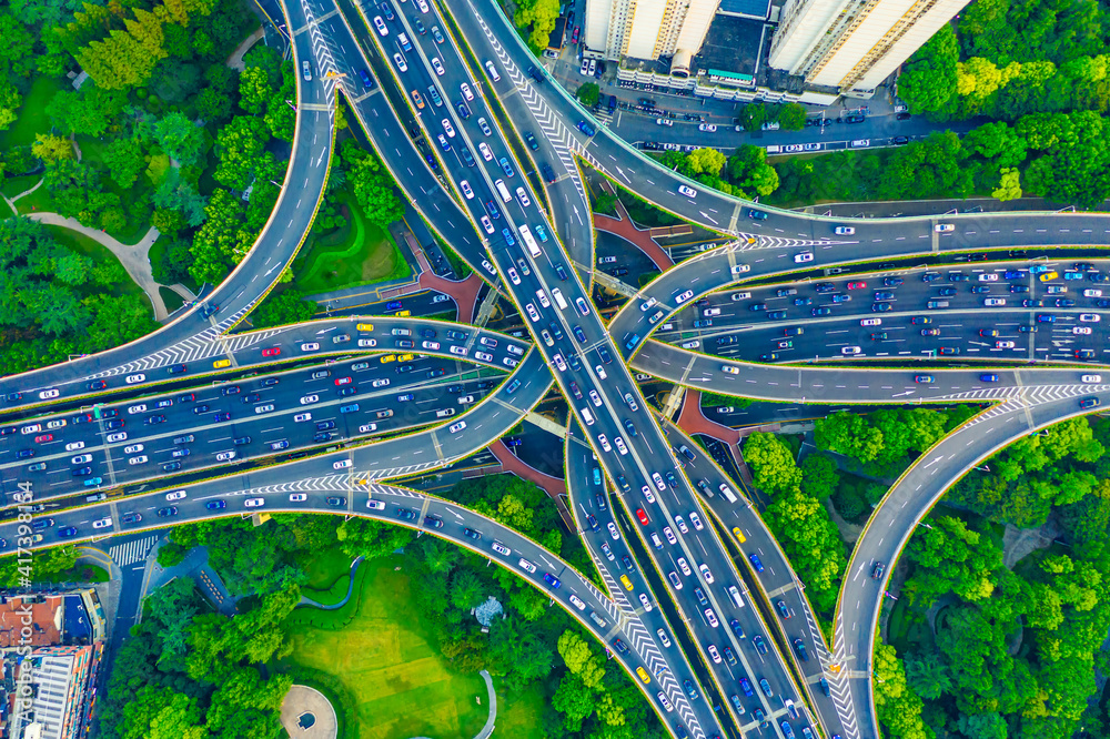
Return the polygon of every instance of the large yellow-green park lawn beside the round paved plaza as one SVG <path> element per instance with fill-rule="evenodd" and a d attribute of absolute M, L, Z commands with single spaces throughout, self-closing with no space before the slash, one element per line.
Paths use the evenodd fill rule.
<path fill-rule="evenodd" d="M 401 561 L 389 557 L 360 567 L 357 597 L 339 610 L 294 611 L 286 620 L 293 654 L 276 667 L 290 668 L 294 679 L 303 672 L 341 697 L 342 736 L 470 739 L 487 716 L 485 685 L 477 674 L 447 670 L 411 601 L 407 576 L 394 570 Z M 517 700 L 498 712 L 498 735 L 539 736 L 539 710 L 537 699 Z M 503 732 L 503 723 L 527 727 L 527 733 Z"/>

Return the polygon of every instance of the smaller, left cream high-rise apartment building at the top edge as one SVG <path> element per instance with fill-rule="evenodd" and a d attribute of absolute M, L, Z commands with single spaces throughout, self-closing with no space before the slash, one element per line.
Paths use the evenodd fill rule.
<path fill-rule="evenodd" d="M 586 0 L 586 48 L 605 59 L 693 57 L 720 0 Z"/>

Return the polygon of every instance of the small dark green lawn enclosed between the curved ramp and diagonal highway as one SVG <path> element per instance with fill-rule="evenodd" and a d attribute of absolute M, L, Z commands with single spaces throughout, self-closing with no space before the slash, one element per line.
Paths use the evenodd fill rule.
<path fill-rule="evenodd" d="M 309 237 L 293 267 L 296 287 L 311 295 L 412 274 L 393 237 L 366 220 L 350 193 L 337 193 L 336 201 L 344 206 L 347 224 Z"/>

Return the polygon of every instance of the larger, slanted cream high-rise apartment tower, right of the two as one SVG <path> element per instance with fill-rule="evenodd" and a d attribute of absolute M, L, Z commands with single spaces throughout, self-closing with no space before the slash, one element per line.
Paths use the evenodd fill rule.
<path fill-rule="evenodd" d="M 969 0 L 787 0 L 770 67 L 868 95 Z"/>

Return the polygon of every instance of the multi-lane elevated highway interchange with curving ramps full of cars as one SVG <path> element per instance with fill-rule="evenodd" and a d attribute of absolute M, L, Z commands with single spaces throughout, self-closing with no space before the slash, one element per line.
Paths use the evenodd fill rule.
<path fill-rule="evenodd" d="M 852 234 L 836 234 L 842 223 L 820 216 L 759 207 L 767 217 L 749 217 L 751 207 L 727 195 L 704 190 L 679 194 L 679 184 L 695 183 L 645 159 L 579 111 L 565 91 L 542 82 L 543 74 L 534 70 L 538 62 L 496 6 L 471 0 L 444 4 L 453 17 L 412 3 L 396 6 L 392 20 L 372 4 L 305 1 L 282 7 L 294 60 L 311 60 L 315 74 L 311 82 L 300 78 L 293 158 L 254 249 L 204 301 L 155 334 L 2 381 L 6 431 L 12 429 L 0 436 L 4 493 L 12 500 L 30 483 L 34 500 L 49 506 L 40 518 L 50 524 L 38 525 L 36 533 L 43 538 L 33 544 L 258 509 L 382 517 L 467 546 L 549 591 L 615 650 L 676 736 L 754 731 L 786 737 L 811 725 L 826 736 L 877 736 L 868 665 L 881 584 L 866 576 L 870 564 L 896 560 L 917 520 L 978 460 L 1009 439 L 1078 414 L 1080 398 L 1106 395 L 1110 386 L 1100 376 L 1082 379 L 1087 371 L 1077 367 L 996 366 L 988 382 L 979 367 L 924 370 L 917 362 L 912 368 L 850 370 L 767 363 L 839 361 L 845 347 L 860 346 L 852 357 L 858 362 L 879 357 L 887 344 L 891 346 L 881 358 L 908 352 L 931 360 L 928 352 L 945 342 L 958 343 L 961 360 L 985 348 L 977 360 L 993 363 L 1000 354 L 1012 354 L 1005 358 L 1027 362 L 1032 351 L 1038 360 L 1073 361 L 1068 353 L 1092 348 L 1094 356 L 1087 361 L 1099 362 L 1101 324 L 1080 321 L 1081 314 L 1104 313 L 1097 296 L 1082 296 L 1082 290 L 1099 288 L 1086 269 L 1086 280 L 1066 280 L 1071 262 L 1060 262 L 1059 280 L 1041 282 L 1029 267 L 1054 262 L 957 260 L 961 252 L 980 250 L 1098 245 L 1107 240 L 1110 222 L 1094 214 L 1045 213 L 876 219 L 852 222 Z M 410 48 L 400 41 L 401 33 Z M 366 84 L 367 72 L 376 82 Z M 430 87 L 442 105 L 435 104 Z M 311 224 L 326 181 L 337 93 L 432 230 L 515 303 L 532 334 L 531 345 L 473 326 L 381 316 L 228 333 L 276 282 Z M 730 241 L 633 290 L 636 297 L 605 325 L 589 298 L 594 236 L 575 156 Z M 942 224 L 951 229 L 938 230 Z M 524 236 L 525 227 L 533 243 Z M 810 257 L 798 260 L 804 254 Z M 925 255 L 951 256 L 953 263 L 929 267 L 940 274 L 931 282 L 921 281 L 926 270 L 906 269 L 909 264 L 850 277 L 820 274 L 837 264 Z M 1017 276 L 1007 277 L 1008 269 Z M 955 271 L 969 279 L 949 281 Z M 987 273 L 999 277 L 980 281 Z M 779 284 L 737 286 L 741 280 L 773 275 Z M 788 282 L 793 277 L 806 280 Z M 902 283 L 884 285 L 890 277 Z M 849 290 L 849 281 L 867 286 Z M 833 291 L 817 293 L 815 282 L 830 282 Z M 1011 293 L 1011 284 L 1029 292 Z M 1049 295 L 1050 285 L 1068 293 Z M 972 286 L 989 292 L 971 293 Z M 948 287 L 953 295 L 938 293 Z M 778 296 L 778 290 L 797 294 Z M 733 301 L 739 291 L 751 296 Z M 876 298 L 877 291 L 894 297 Z M 833 304 L 833 294 L 854 300 Z M 697 305 L 703 295 L 710 295 L 707 306 Z M 1007 300 L 1005 307 L 981 304 L 996 296 Z M 1048 305 L 1064 296 L 1076 305 Z M 813 303 L 794 305 L 801 297 Z M 1018 310 L 1012 304 L 1017 298 L 1043 300 L 1046 307 Z M 928 300 L 950 305 L 930 311 Z M 650 306 L 640 310 L 645 301 Z M 749 310 L 756 303 L 766 303 L 767 310 Z M 872 311 L 875 303 L 895 307 Z M 807 313 L 821 306 L 830 307 L 828 316 Z M 706 307 L 720 313 L 703 316 Z M 776 310 L 787 311 L 787 317 L 770 318 Z M 1036 334 L 1019 331 L 1037 324 L 1039 313 L 1057 321 L 1040 323 Z M 935 321 L 910 323 L 921 315 Z M 1005 317 L 988 324 L 985 315 Z M 712 326 L 693 325 L 705 317 L 713 320 Z M 882 323 L 860 325 L 872 317 Z M 776 332 L 803 324 L 806 331 L 793 337 L 796 345 L 753 363 L 778 353 L 777 342 L 787 337 L 776 337 Z M 1084 325 L 1094 331 L 1071 333 Z M 1068 333 L 1057 336 L 1045 330 L 1049 326 L 1066 326 Z M 939 337 L 920 334 L 931 327 L 941 328 Z M 999 335 L 980 336 L 980 328 L 997 328 Z M 880 331 L 887 337 L 872 340 L 870 334 Z M 649 338 L 653 332 L 670 344 Z M 724 344 L 718 351 L 717 338 L 728 335 L 739 337 L 743 351 L 726 351 L 730 345 Z M 345 338 L 334 341 L 340 336 Z M 694 340 L 697 345 L 690 344 Z M 360 344 L 370 341 L 375 343 Z M 991 346 L 1000 341 L 1015 346 Z M 707 350 L 719 355 L 705 354 Z M 398 356 L 408 353 L 416 356 Z M 834 642 L 825 645 L 797 576 L 743 492 L 692 439 L 653 415 L 630 370 L 766 399 L 995 405 L 924 455 L 875 512 L 845 578 Z M 917 382 L 920 375 L 931 382 Z M 385 379 L 389 385 L 381 384 Z M 551 553 L 477 514 L 383 484 L 484 448 L 553 383 L 574 414 L 566 452 L 571 507 L 607 594 Z M 184 401 L 186 394 L 192 397 Z M 196 412 L 204 405 L 209 407 Z M 297 421 L 304 413 L 312 417 Z M 125 423 L 112 428 L 113 421 Z M 24 433 L 34 425 L 41 428 Z M 120 433 L 128 437 L 110 438 Z M 36 441 L 44 436 L 50 438 Z M 178 442 L 185 436 L 193 438 Z M 138 445 L 143 448 L 133 448 Z M 33 455 L 20 457 L 26 449 Z M 190 453 L 173 456 L 180 449 Z M 234 456 L 228 456 L 231 452 Z M 92 458 L 74 460 L 84 455 Z M 175 468 L 175 463 L 182 466 Z M 31 470 L 40 464 L 44 468 Z M 85 499 L 100 490 L 111 495 Z M 384 502 L 385 508 L 369 507 L 370 500 Z M 411 520 L 406 512 L 412 512 Z M 483 532 L 482 538 L 468 536 L 467 529 Z M 9 549 L 31 544 L 13 523 L 0 526 L 0 533 L 11 543 Z M 492 538 L 513 555 L 494 549 Z M 535 564 L 536 571 L 517 561 L 517 555 Z M 553 587 L 544 574 L 562 580 L 562 587 Z M 736 588 L 735 595 L 729 588 Z M 637 677 L 637 667 L 648 670 L 647 682 Z"/>

